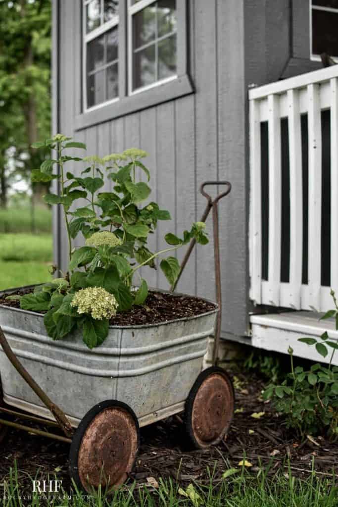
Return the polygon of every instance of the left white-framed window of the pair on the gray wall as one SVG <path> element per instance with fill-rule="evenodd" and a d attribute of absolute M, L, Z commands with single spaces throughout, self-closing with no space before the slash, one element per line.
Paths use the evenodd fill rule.
<path fill-rule="evenodd" d="M 83 108 L 119 98 L 119 0 L 83 0 Z"/>

